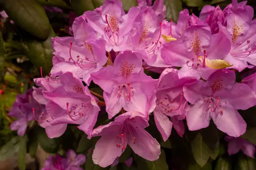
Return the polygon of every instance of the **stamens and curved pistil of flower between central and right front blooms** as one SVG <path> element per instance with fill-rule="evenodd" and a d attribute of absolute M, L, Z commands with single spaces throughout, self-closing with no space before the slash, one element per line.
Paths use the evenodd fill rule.
<path fill-rule="evenodd" d="M 173 109 L 172 107 L 174 103 L 173 99 L 170 100 L 168 96 L 165 96 L 164 98 L 159 97 L 157 98 L 157 101 L 156 101 L 157 108 L 160 109 L 161 113 L 163 114 L 168 114 L 168 113 L 171 113 L 172 111 L 177 111 L 181 106 L 182 96 L 183 94 L 180 94 L 180 103 L 178 107 L 175 109 Z"/>

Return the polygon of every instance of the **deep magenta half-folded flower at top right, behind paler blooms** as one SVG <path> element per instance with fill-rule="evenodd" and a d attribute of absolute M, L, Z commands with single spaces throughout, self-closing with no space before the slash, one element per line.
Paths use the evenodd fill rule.
<path fill-rule="evenodd" d="M 224 25 L 224 13 L 219 6 L 204 6 L 199 18 L 210 26 L 212 34 L 218 33 L 220 23 Z"/>

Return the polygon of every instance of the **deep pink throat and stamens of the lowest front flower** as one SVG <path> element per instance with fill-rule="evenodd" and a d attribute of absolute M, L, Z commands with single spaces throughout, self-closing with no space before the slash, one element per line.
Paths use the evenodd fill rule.
<path fill-rule="evenodd" d="M 127 136 L 128 133 L 128 136 Z M 135 144 L 135 137 L 132 133 L 131 127 L 128 123 L 126 123 L 126 121 L 123 123 L 119 133 L 116 135 L 119 140 L 118 143 L 116 144 L 116 147 L 121 147 L 122 148 L 122 152 L 126 149 L 126 145 L 127 145 L 127 139 L 130 136 L 132 142 Z"/>

